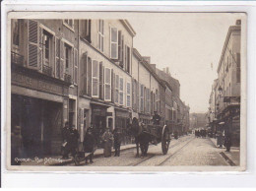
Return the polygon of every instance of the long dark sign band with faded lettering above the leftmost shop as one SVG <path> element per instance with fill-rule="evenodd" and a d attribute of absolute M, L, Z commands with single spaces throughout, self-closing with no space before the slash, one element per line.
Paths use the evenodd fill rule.
<path fill-rule="evenodd" d="M 20 85 L 37 91 L 63 95 L 63 88 L 43 80 L 32 78 L 24 74 L 12 72 L 12 84 Z"/>

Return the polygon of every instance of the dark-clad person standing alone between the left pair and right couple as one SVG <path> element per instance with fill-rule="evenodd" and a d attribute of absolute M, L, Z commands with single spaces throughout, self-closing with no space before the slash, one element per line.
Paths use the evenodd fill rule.
<path fill-rule="evenodd" d="M 89 153 L 86 157 L 86 163 L 88 163 L 88 159 L 93 163 L 94 153 L 96 149 L 96 139 L 93 134 L 93 128 L 88 128 L 87 133 L 84 138 L 84 151 L 85 153 Z"/>

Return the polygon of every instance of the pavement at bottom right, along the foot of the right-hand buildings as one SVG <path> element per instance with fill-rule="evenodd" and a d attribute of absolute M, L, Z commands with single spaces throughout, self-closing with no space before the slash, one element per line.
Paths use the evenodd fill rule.
<path fill-rule="evenodd" d="M 219 148 L 221 151 L 222 157 L 230 164 L 230 165 L 239 165 L 240 164 L 240 149 L 239 147 L 231 147 L 230 152 L 225 152 L 225 148 L 220 148 L 217 146 L 217 139 L 210 138 L 216 148 Z"/>

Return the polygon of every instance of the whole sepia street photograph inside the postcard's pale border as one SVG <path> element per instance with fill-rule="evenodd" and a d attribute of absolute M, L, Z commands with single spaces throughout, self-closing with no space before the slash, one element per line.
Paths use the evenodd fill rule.
<path fill-rule="evenodd" d="M 239 166 L 244 24 L 203 15 L 13 19 L 7 162 Z"/>

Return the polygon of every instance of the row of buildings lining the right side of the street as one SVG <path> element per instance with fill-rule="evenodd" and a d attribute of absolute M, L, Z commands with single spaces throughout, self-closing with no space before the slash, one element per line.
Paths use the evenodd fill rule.
<path fill-rule="evenodd" d="M 216 133 L 229 134 L 234 146 L 240 143 L 240 43 L 241 21 L 237 20 L 226 34 L 209 101 L 209 124 Z"/>

